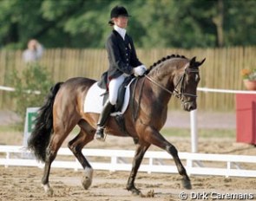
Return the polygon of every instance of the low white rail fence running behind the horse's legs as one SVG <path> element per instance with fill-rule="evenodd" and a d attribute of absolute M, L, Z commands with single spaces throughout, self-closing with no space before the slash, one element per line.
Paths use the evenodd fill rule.
<path fill-rule="evenodd" d="M 124 150 L 106 150 L 106 149 L 83 149 L 83 154 L 92 160 L 101 160 L 102 162 L 91 162 L 95 170 L 108 171 L 130 171 L 131 163 L 125 161 L 134 158 L 134 151 Z M 8 167 L 16 166 L 38 166 L 43 167 L 42 163 L 38 163 L 36 159 L 28 158 L 30 152 L 24 150 L 23 146 L 0 146 L 0 165 Z M 59 157 L 73 156 L 69 148 L 61 148 L 58 152 Z M 23 157 L 27 156 L 27 157 Z M 31 156 L 31 155 L 30 155 Z M 180 152 L 179 156 L 187 168 L 189 175 L 220 175 L 220 176 L 237 176 L 237 177 L 255 177 L 256 178 L 256 157 L 246 155 L 225 155 L 225 154 L 207 154 L 207 153 L 189 153 Z M 96 157 L 96 159 L 93 159 Z M 73 160 L 72 160 L 73 159 Z M 56 159 L 52 167 L 81 169 L 82 165 L 72 157 L 72 159 Z M 141 172 L 166 172 L 177 173 L 176 166 L 170 165 L 172 157 L 167 152 L 146 152 L 144 160 L 148 159 L 147 163 L 141 164 Z M 166 162 L 165 162 L 166 161 Z M 202 166 L 194 165 L 201 164 Z M 251 164 L 251 165 L 248 165 Z M 215 166 L 215 167 L 214 167 Z M 242 169 L 246 166 L 246 169 Z M 248 169 L 253 167 L 254 170 Z"/>

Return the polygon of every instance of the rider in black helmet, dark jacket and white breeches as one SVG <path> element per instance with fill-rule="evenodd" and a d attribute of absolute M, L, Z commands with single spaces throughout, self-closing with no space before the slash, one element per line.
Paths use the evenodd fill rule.
<path fill-rule="evenodd" d="M 108 52 L 109 68 L 107 82 L 109 97 L 100 114 L 95 139 L 104 141 L 104 126 L 117 100 L 117 92 L 125 77 L 129 75 L 144 75 L 147 68 L 138 60 L 135 45 L 126 34 L 128 25 L 128 11 L 122 6 L 115 6 L 111 10 L 108 24 L 113 31 L 108 36 L 106 49 Z"/>

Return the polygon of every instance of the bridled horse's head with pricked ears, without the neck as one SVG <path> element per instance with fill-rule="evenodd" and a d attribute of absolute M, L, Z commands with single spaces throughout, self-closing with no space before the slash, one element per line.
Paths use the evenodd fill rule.
<path fill-rule="evenodd" d="M 183 109 L 186 111 L 194 110 L 197 107 L 196 88 L 200 81 L 199 67 L 205 60 L 196 62 L 194 57 L 175 71 L 174 94 L 181 99 Z"/>

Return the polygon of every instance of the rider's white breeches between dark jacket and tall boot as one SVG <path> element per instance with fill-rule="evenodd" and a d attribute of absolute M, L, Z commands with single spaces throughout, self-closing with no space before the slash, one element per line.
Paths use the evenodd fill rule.
<path fill-rule="evenodd" d="M 114 78 L 109 82 L 109 85 L 108 85 L 109 102 L 112 105 L 116 104 L 118 89 L 120 88 L 121 83 L 124 81 L 125 78 L 126 78 L 126 75 L 120 75 L 119 77 Z"/>

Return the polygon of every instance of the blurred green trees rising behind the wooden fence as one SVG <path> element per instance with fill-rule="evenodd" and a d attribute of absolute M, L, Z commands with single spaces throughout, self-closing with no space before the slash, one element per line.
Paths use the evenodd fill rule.
<path fill-rule="evenodd" d="M 255 0 L 1 0 L 0 47 L 103 48 L 110 10 L 128 9 L 139 48 L 255 45 Z"/>

